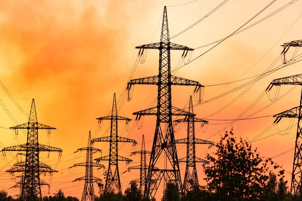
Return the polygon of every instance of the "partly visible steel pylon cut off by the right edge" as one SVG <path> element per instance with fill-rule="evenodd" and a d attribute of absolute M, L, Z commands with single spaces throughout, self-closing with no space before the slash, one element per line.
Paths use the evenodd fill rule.
<path fill-rule="evenodd" d="M 282 45 L 284 47 L 282 54 L 284 54 L 284 62 L 285 60 L 285 53 L 287 52 L 290 46 L 292 47 L 302 47 L 302 40 L 299 41 L 291 41 L 289 43 L 284 43 Z M 274 79 L 270 85 L 266 88 L 266 90 L 270 90 L 274 85 L 279 86 L 281 84 L 293 84 L 293 85 L 302 85 L 302 74 L 292 75 L 288 77 L 282 77 L 279 79 Z M 295 149 L 294 149 L 294 156 L 293 156 L 293 165 L 292 165 L 292 174 L 291 174 L 291 184 L 290 184 L 290 193 L 296 194 L 299 192 L 301 187 L 301 173 L 302 173 L 302 142 L 299 143 L 298 140 L 302 139 L 302 92 L 300 96 L 300 106 L 292 108 L 290 110 L 284 111 L 277 115 L 274 115 L 277 119 L 274 123 L 278 123 L 281 118 L 298 118 L 298 126 L 297 126 L 297 134 L 295 140 Z"/>

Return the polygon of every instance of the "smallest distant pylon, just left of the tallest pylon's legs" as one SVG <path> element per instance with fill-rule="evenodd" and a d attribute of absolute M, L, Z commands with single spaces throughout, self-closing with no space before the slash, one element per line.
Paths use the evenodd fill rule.
<path fill-rule="evenodd" d="M 128 171 L 130 169 L 139 169 L 139 179 L 134 180 L 134 182 L 139 183 L 139 190 L 143 191 L 143 186 L 146 184 L 147 178 L 147 169 L 148 166 L 146 165 L 146 154 L 151 154 L 150 151 L 146 151 L 145 144 L 144 144 L 144 136 L 142 135 L 141 140 L 141 149 L 140 151 L 131 152 L 130 156 L 140 154 L 140 165 L 128 167 Z"/>

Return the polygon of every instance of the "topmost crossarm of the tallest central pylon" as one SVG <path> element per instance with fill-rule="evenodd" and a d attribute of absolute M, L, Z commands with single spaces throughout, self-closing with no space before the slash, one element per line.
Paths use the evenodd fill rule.
<path fill-rule="evenodd" d="M 166 50 L 188 50 L 193 51 L 194 49 L 189 48 L 187 46 L 178 45 L 171 42 L 158 42 L 158 43 L 150 43 L 141 46 L 135 47 L 136 49 L 166 49 Z"/>

